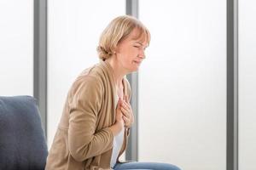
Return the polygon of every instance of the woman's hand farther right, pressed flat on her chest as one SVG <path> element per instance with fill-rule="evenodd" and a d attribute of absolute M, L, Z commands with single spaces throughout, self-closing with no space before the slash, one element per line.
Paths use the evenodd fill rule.
<path fill-rule="evenodd" d="M 134 122 L 134 116 L 132 113 L 131 105 L 128 101 L 128 96 L 125 96 L 125 100 L 121 100 L 121 111 L 125 122 L 125 127 L 131 127 Z"/>

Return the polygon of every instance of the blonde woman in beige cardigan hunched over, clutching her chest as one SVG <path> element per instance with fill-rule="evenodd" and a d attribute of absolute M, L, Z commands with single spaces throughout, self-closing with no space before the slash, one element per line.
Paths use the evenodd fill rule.
<path fill-rule="evenodd" d="M 145 59 L 150 34 L 131 16 L 119 16 L 102 32 L 100 63 L 86 69 L 67 94 L 46 169 L 170 169 L 169 164 L 119 161 L 134 116 L 125 75 Z"/>

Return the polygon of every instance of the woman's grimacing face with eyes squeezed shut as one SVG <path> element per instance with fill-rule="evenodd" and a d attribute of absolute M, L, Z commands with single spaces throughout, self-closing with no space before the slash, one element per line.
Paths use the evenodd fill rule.
<path fill-rule="evenodd" d="M 144 36 L 137 38 L 139 33 L 137 29 L 131 31 L 125 40 L 119 42 L 116 49 L 119 65 L 128 72 L 137 71 L 145 59 L 145 48 L 148 44 Z"/>

